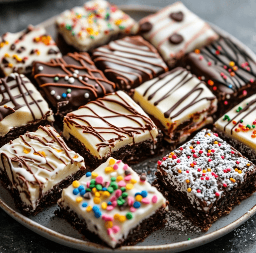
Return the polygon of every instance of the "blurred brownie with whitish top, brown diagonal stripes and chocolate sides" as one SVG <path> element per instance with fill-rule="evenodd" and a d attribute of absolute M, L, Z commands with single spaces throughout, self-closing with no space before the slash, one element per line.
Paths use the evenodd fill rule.
<path fill-rule="evenodd" d="M 98 47 L 93 61 L 118 90 L 129 92 L 166 71 L 157 50 L 141 36 L 127 36 Z"/>

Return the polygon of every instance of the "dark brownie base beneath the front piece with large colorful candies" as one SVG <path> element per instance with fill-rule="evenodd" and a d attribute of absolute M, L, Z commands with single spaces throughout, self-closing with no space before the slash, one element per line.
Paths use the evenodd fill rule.
<path fill-rule="evenodd" d="M 166 213 L 167 211 L 165 207 L 159 208 L 152 216 L 143 220 L 136 228 L 132 229 L 127 238 L 122 238 L 119 240 L 115 248 L 125 245 L 131 246 L 144 241 L 144 239 L 152 232 L 164 226 L 166 223 Z M 98 237 L 98 235 L 88 230 L 86 221 L 78 218 L 75 212 L 69 211 L 69 207 L 56 210 L 55 215 L 66 219 L 75 229 L 77 229 L 81 234 L 84 235 L 86 239 L 90 240 L 91 242 L 109 247 Z"/>

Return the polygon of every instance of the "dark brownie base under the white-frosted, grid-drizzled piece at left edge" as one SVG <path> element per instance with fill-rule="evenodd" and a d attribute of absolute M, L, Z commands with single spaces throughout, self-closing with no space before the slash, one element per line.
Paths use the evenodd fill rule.
<path fill-rule="evenodd" d="M 49 115 L 46 115 L 45 118 L 47 118 Z M 43 119 L 41 121 L 31 122 L 30 124 L 27 124 L 22 127 L 16 127 L 11 129 L 5 136 L 0 137 L 0 147 L 2 147 L 4 144 L 8 143 L 10 140 L 15 140 L 20 135 L 25 134 L 28 132 L 34 132 L 37 130 L 39 126 L 46 126 L 51 125 L 53 126 L 52 121 L 48 121 L 47 119 Z"/>

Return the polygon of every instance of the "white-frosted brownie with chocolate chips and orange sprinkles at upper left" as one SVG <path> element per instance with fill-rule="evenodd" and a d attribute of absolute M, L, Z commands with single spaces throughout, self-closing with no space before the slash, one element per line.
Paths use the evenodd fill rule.
<path fill-rule="evenodd" d="M 62 54 L 43 27 L 29 25 L 25 31 L 6 32 L 0 37 L 0 72 L 29 74 L 35 60 L 49 61 Z"/>

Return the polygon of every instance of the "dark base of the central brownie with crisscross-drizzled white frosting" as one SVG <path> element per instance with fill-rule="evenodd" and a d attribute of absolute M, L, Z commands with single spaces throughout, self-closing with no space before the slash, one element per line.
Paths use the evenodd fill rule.
<path fill-rule="evenodd" d="M 144 142 L 134 143 L 133 145 L 126 145 L 116 151 L 113 151 L 107 157 L 102 159 L 98 159 L 96 156 L 92 155 L 91 152 L 83 145 L 83 143 L 81 143 L 74 136 L 70 135 L 69 140 L 65 139 L 64 137 L 63 139 L 70 149 L 84 157 L 86 167 L 92 171 L 101 163 L 105 162 L 110 156 L 116 159 L 121 159 L 124 163 L 136 164 L 148 158 L 150 155 L 158 155 L 163 152 L 162 136 L 162 133 L 159 132 L 157 136 L 157 143 L 153 143 L 152 140 L 146 140 Z"/>

